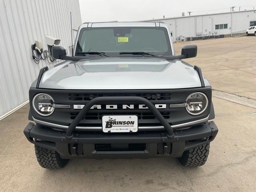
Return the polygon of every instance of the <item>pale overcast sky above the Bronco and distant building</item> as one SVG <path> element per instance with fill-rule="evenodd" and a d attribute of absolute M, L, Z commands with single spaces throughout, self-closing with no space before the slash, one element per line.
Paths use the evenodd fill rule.
<path fill-rule="evenodd" d="M 79 0 L 82 22 L 140 21 L 256 9 L 256 0 Z"/>

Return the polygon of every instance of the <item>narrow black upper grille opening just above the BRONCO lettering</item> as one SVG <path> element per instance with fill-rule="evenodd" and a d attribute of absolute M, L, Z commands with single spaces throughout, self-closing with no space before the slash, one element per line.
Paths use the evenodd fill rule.
<path fill-rule="evenodd" d="M 150 101 L 154 100 L 170 100 L 170 93 L 70 93 L 68 94 L 70 101 L 90 101 L 96 97 L 115 97 L 115 96 L 138 96 L 144 97 Z"/>

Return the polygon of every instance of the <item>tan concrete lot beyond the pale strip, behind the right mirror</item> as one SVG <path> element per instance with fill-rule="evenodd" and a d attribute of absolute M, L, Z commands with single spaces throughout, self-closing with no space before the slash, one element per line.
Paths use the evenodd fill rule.
<path fill-rule="evenodd" d="M 175 43 L 176 54 L 186 44 L 196 44 L 198 55 L 184 61 L 200 66 L 213 89 L 256 99 L 255 36 Z"/>

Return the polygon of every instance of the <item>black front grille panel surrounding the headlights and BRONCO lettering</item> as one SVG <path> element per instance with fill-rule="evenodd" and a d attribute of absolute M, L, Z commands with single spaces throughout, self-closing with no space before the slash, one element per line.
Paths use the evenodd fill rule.
<path fill-rule="evenodd" d="M 199 116 L 188 114 L 185 108 L 169 108 L 170 104 L 184 103 L 186 98 L 194 92 L 203 92 L 208 96 L 209 106 L 206 111 Z M 38 93 L 46 93 L 52 96 L 56 104 L 70 104 L 70 109 L 54 110 L 54 113 L 48 117 L 38 115 L 32 106 L 32 99 Z M 212 90 L 210 86 L 205 88 L 189 88 L 189 89 L 170 89 L 170 90 L 52 90 L 42 88 L 30 88 L 30 111 L 32 116 L 41 121 L 46 121 L 54 124 L 69 126 L 72 120 L 76 117 L 80 110 L 74 109 L 74 104 L 86 104 L 89 100 L 99 96 L 142 96 L 153 104 L 166 104 L 166 109 L 158 109 L 164 118 L 171 125 L 181 124 L 194 120 L 206 118 L 210 113 L 210 104 Z M 81 97 L 82 100 L 74 99 Z M 100 104 L 100 103 L 99 103 Z M 120 103 L 112 103 L 122 105 Z M 129 115 L 135 114 L 138 116 L 139 126 L 160 126 L 160 122 L 148 109 L 93 109 L 84 116 L 78 126 L 102 126 L 102 115 Z"/>

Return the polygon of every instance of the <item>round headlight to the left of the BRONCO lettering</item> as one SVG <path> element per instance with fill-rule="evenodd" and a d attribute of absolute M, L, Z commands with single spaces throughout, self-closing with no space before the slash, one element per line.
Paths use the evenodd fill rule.
<path fill-rule="evenodd" d="M 32 100 L 34 110 L 41 116 L 49 116 L 54 112 L 53 103 L 53 98 L 44 93 L 37 94 Z"/>

